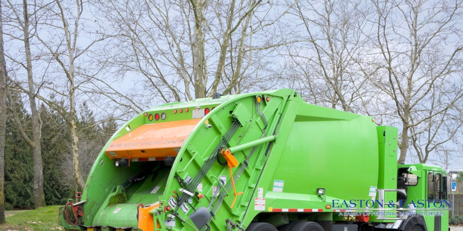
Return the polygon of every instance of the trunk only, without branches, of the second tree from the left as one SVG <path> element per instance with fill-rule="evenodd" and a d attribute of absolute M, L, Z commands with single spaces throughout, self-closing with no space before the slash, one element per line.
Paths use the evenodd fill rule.
<path fill-rule="evenodd" d="M 27 12 L 27 2 L 23 1 L 24 14 L 24 49 L 26 52 L 26 69 L 29 91 L 30 112 L 32 115 L 32 156 L 34 161 L 34 205 L 35 208 L 45 207 L 45 195 L 43 192 L 43 167 L 42 167 L 42 147 L 40 144 L 41 124 L 39 122 L 39 110 L 35 103 L 35 89 L 32 75 L 32 58 L 29 43 L 29 15 Z"/>

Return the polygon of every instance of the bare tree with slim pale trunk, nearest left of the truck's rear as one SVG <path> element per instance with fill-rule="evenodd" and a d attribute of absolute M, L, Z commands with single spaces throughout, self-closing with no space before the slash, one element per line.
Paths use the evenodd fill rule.
<path fill-rule="evenodd" d="M 92 68 L 92 59 L 86 55 L 91 53 L 94 44 L 108 37 L 92 35 L 91 31 L 88 31 L 92 29 L 93 24 L 90 19 L 82 17 L 85 2 L 57 0 L 52 3 L 44 7 L 48 12 L 47 21 L 37 23 L 37 27 L 42 27 L 47 33 L 34 34 L 45 50 L 43 58 L 53 61 L 51 65 L 54 71 L 50 71 L 52 78 L 43 86 L 52 98 L 48 99 L 43 95 L 37 97 L 60 113 L 69 126 L 72 135 L 73 176 L 79 190 L 83 190 L 85 182 L 79 163 L 76 95 L 78 89 L 90 82 L 103 68 Z M 81 34 L 85 34 L 87 38 L 80 38 Z M 64 75 L 65 78 L 60 78 L 60 75 Z M 56 98 L 65 99 L 66 104 L 56 103 Z"/>

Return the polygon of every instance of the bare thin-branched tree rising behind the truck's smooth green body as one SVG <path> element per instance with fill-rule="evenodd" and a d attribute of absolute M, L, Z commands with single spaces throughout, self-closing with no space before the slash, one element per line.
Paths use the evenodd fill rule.
<path fill-rule="evenodd" d="M 291 3 L 291 2 L 290 2 Z M 349 112 L 367 112 L 371 86 L 357 74 L 354 57 L 365 49 L 368 28 L 363 1 L 300 1 L 290 13 L 298 18 L 294 34 L 307 43 L 290 44 L 290 78 L 299 79 L 309 102 Z"/>

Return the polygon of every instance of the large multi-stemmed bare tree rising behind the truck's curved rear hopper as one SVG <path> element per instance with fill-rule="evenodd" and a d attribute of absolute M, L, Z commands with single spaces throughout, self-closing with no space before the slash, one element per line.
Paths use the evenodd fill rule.
<path fill-rule="evenodd" d="M 103 33 L 115 36 L 105 46 L 117 50 L 102 55 L 112 68 L 110 78 L 93 81 L 95 91 L 133 112 L 153 101 L 247 89 L 255 82 L 245 79 L 257 70 L 264 77 L 272 64 L 265 60 L 285 42 L 270 28 L 287 9 L 270 1 L 100 0 L 95 5 L 108 21 Z M 137 78 L 126 91 L 117 87 L 129 82 L 124 76 Z M 140 94 L 145 89 L 153 90 Z"/>

